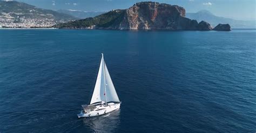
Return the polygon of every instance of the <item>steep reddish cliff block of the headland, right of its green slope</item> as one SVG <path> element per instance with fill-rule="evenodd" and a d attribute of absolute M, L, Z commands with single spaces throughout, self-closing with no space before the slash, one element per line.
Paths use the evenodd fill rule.
<path fill-rule="evenodd" d="M 197 29 L 194 21 L 185 18 L 185 13 L 186 10 L 177 5 L 140 2 L 126 9 L 119 29 Z"/>

